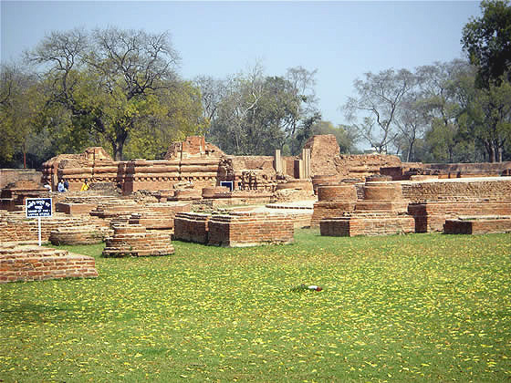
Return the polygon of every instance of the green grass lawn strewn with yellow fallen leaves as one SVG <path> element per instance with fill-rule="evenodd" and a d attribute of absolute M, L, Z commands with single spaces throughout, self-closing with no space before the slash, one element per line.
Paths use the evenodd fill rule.
<path fill-rule="evenodd" d="M 0 381 L 511 379 L 511 235 L 295 238 L 63 246 L 99 278 L 0 285 Z"/>

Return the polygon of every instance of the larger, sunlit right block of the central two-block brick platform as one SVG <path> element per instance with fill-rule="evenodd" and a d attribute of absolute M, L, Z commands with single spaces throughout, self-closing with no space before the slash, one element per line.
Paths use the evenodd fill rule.
<path fill-rule="evenodd" d="M 213 215 L 209 220 L 208 244 L 228 247 L 293 243 L 291 217 L 255 212 Z"/>

